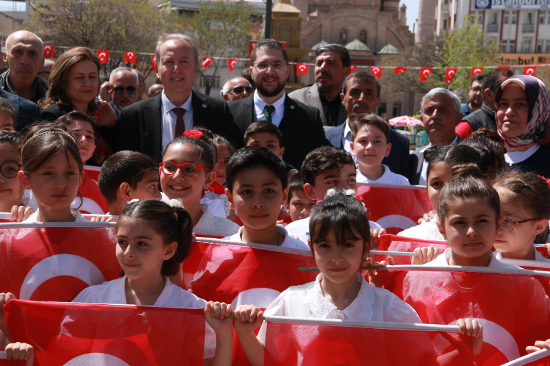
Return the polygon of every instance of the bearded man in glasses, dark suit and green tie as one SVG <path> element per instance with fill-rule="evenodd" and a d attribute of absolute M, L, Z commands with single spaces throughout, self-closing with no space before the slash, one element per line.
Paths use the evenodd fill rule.
<path fill-rule="evenodd" d="M 319 111 L 286 95 L 285 83 L 290 67 L 281 43 L 273 39 L 260 41 L 250 58 L 256 91 L 248 98 L 230 102 L 234 121 L 243 134 L 253 122 L 272 122 L 283 134 L 283 159 L 299 168 L 308 152 L 329 144 Z"/>

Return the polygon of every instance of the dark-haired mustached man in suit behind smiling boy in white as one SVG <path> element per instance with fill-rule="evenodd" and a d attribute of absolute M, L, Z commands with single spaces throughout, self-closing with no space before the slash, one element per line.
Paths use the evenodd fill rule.
<path fill-rule="evenodd" d="M 351 121 L 361 113 L 375 113 L 380 103 L 380 82 L 371 73 L 364 71 L 352 73 L 342 83 L 340 94 L 347 119 L 344 124 L 330 128 L 325 135 L 332 146 L 344 148 L 351 154 Z M 390 130 L 391 151 L 388 157 L 382 160 L 391 172 L 409 176 L 409 140 L 400 133 Z M 355 157 L 353 157 L 355 159 Z M 357 161 L 355 161 L 357 163 Z"/>

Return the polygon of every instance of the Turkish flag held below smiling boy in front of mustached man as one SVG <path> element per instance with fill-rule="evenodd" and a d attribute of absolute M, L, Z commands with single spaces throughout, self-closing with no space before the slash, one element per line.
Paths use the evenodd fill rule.
<path fill-rule="evenodd" d="M 416 226 L 432 209 L 426 187 L 414 185 L 358 183 L 358 199 L 365 204 L 369 220 L 388 233 Z"/>

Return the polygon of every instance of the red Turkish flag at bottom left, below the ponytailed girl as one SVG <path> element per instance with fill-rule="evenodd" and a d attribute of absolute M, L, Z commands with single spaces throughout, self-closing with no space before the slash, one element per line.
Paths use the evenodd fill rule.
<path fill-rule="evenodd" d="M 202 309 L 11 300 L 4 310 L 35 365 L 203 365 Z"/>

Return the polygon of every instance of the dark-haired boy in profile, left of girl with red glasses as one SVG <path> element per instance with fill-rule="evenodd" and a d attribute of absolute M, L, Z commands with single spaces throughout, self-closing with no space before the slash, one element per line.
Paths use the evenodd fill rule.
<path fill-rule="evenodd" d="M 99 190 L 109 203 L 109 214 L 120 215 L 134 198 L 159 200 L 159 167 L 148 155 L 120 151 L 111 155 L 99 173 Z"/>

